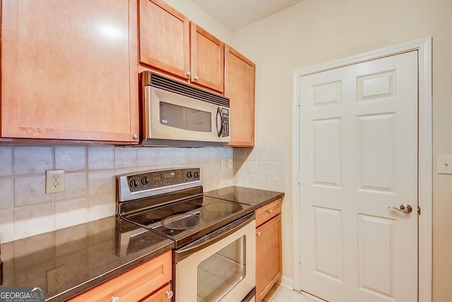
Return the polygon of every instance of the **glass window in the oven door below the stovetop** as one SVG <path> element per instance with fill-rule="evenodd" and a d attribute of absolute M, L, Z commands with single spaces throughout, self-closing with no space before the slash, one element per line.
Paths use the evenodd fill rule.
<path fill-rule="evenodd" d="M 218 301 L 244 279 L 245 240 L 238 238 L 198 265 L 198 302 Z"/>

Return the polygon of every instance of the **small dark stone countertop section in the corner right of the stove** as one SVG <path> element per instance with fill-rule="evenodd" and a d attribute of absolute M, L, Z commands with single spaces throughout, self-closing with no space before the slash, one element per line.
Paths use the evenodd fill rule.
<path fill-rule="evenodd" d="M 250 204 L 255 209 L 265 206 L 270 202 L 284 196 L 282 192 L 251 189 L 249 187 L 223 187 L 222 189 L 204 192 L 204 195 L 220 199 L 230 200 L 232 202 L 242 202 Z"/>

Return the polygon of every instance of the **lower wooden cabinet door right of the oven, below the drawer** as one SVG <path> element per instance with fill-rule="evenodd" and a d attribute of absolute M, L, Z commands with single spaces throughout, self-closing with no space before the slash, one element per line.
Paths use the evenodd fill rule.
<path fill-rule="evenodd" d="M 256 229 L 256 301 L 270 291 L 281 276 L 281 215 Z"/>

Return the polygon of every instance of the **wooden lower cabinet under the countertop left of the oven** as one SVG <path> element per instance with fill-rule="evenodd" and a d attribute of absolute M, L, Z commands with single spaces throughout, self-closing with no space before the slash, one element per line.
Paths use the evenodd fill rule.
<path fill-rule="evenodd" d="M 69 301 L 170 301 L 167 292 L 171 291 L 171 261 L 171 251 L 165 252 Z"/>

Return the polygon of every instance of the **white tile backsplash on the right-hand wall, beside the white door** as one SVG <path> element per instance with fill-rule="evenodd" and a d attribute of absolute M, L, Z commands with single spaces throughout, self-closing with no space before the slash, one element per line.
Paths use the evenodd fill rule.
<path fill-rule="evenodd" d="M 234 149 L 234 185 L 284 192 L 284 154 L 282 147 Z"/>

